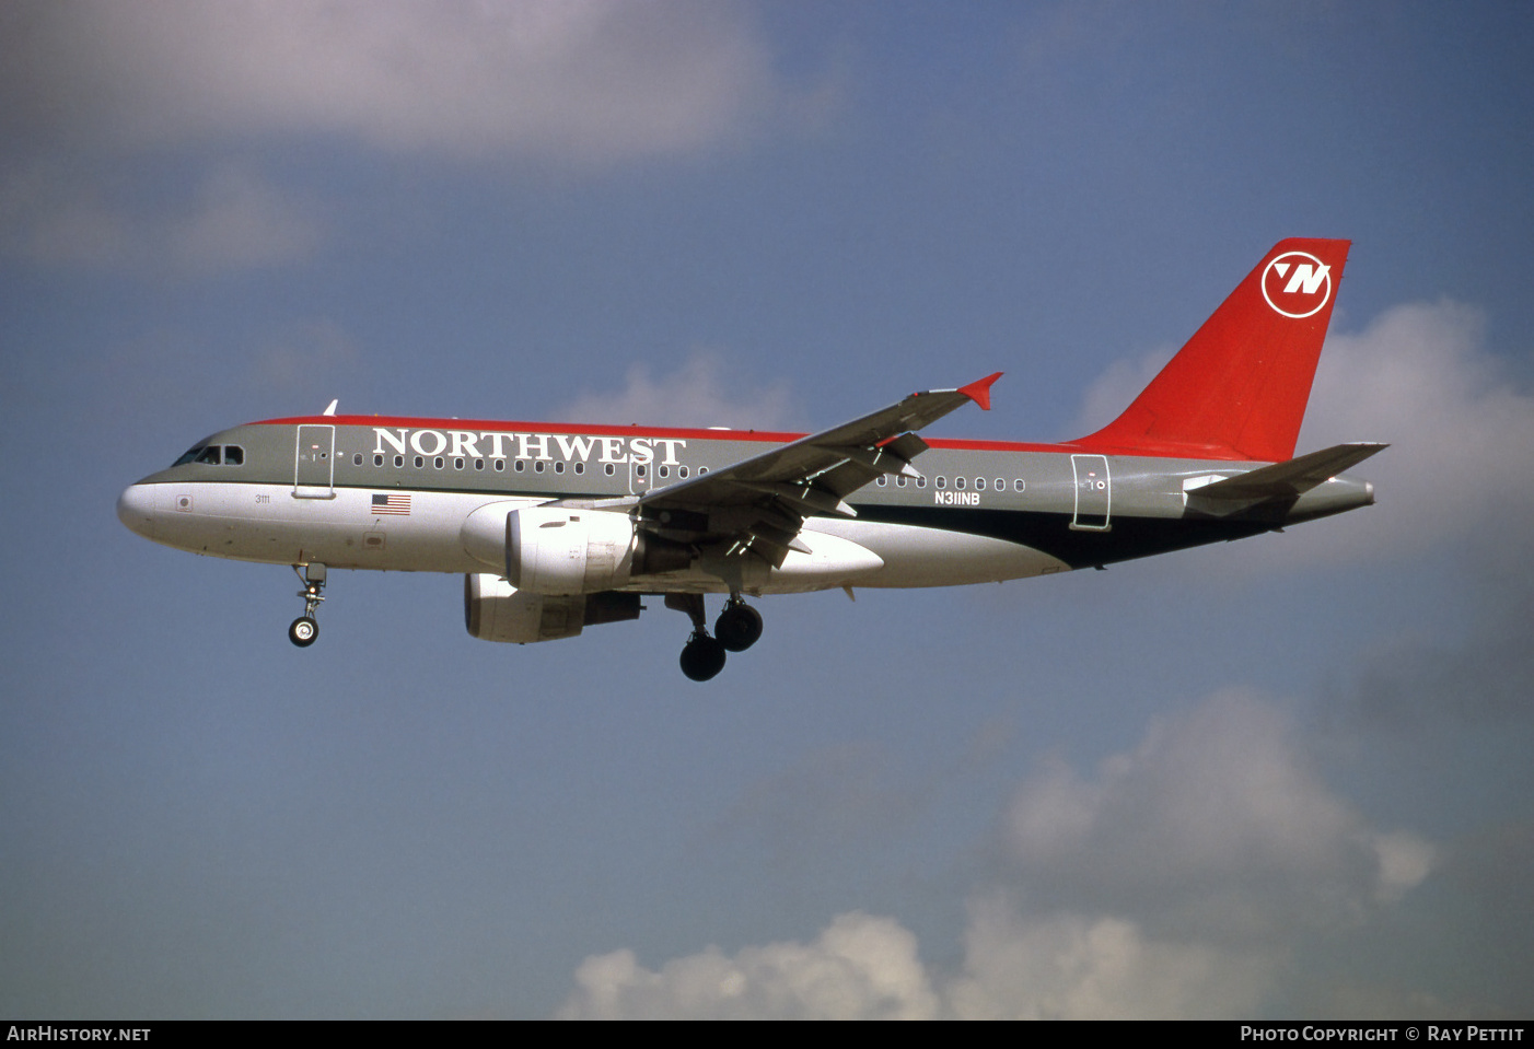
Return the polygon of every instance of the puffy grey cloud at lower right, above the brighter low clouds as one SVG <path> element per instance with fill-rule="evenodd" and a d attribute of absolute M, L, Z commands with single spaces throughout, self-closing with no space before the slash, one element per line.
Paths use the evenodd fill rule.
<path fill-rule="evenodd" d="M 1368 828 L 1285 716 L 1239 692 L 1154 721 L 1092 778 L 1051 764 L 1012 799 L 1005 845 L 1035 900 L 1233 942 L 1356 922 L 1433 862 Z"/>

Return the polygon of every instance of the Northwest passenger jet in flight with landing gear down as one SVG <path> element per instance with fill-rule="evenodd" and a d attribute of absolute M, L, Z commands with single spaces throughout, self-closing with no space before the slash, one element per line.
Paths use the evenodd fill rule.
<path fill-rule="evenodd" d="M 448 572 L 486 641 L 574 638 L 661 597 L 692 623 L 683 673 L 707 681 L 762 633 L 747 597 L 1052 575 L 1371 505 L 1344 471 L 1385 445 L 1295 457 L 1348 247 L 1276 244 L 1118 419 L 1058 445 L 917 436 L 989 409 L 1002 373 L 810 436 L 331 402 L 199 440 L 117 512 L 167 546 L 290 564 L 299 647 L 330 569 Z M 724 595 L 712 633 L 704 595 Z"/>

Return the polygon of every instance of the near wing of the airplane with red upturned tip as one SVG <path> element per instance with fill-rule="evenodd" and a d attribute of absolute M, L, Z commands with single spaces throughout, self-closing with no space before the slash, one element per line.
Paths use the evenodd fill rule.
<path fill-rule="evenodd" d="M 991 408 L 997 371 L 957 390 L 914 393 L 862 419 L 753 455 L 638 501 L 640 528 L 689 544 L 721 543 L 726 554 L 755 551 L 781 567 L 807 517 L 856 517 L 845 497 L 881 474 L 916 477 L 911 460 L 927 451 L 914 431 L 971 400 Z"/>

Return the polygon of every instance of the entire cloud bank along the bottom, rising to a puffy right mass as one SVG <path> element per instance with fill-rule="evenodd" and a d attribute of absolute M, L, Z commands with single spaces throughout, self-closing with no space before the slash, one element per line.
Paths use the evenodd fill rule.
<path fill-rule="evenodd" d="M 1293 960 L 1307 942 L 1368 923 L 1437 862 L 1424 839 L 1368 827 L 1285 716 L 1239 693 L 1158 721 L 1092 776 L 1049 764 L 1000 837 L 1011 888 L 976 891 L 954 974 L 923 966 L 893 919 L 853 913 L 811 943 L 709 948 L 660 969 L 630 951 L 591 957 L 560 1015 L 1253 1015 L 1304 1001 Z"/>

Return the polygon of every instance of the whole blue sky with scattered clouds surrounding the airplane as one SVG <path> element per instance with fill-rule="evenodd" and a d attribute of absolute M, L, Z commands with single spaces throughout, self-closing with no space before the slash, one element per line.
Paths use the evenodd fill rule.
<path fill-rule="evenodd" d="M 1519 5 L 0 9 L 0 1014 L 1528 1015 Z M 491 646 L 115 520 L 360 413 L 1112 417 L 1355 241 L 1379 505 L 1108 572 Z M 653 603 L 658 606 L 658 603 Z"/>

